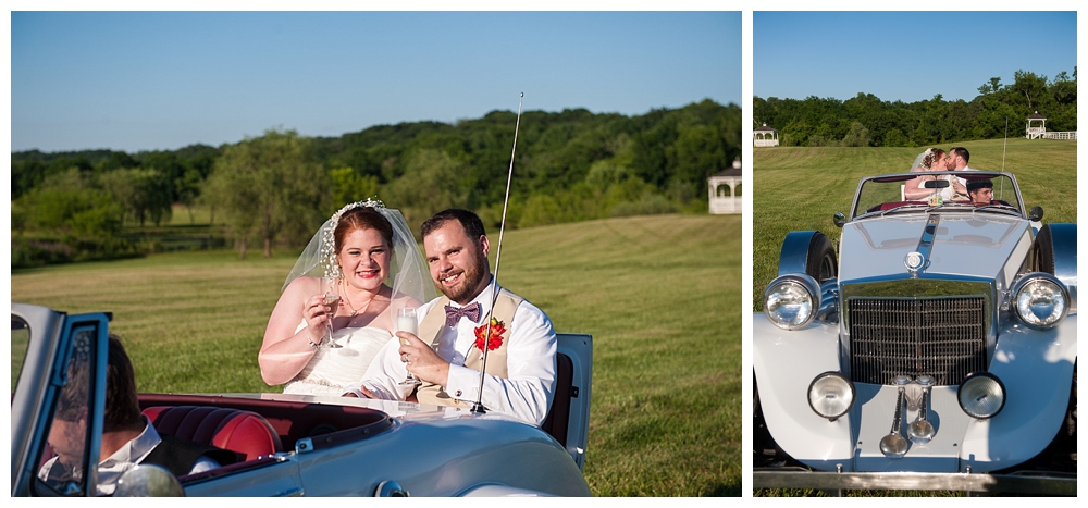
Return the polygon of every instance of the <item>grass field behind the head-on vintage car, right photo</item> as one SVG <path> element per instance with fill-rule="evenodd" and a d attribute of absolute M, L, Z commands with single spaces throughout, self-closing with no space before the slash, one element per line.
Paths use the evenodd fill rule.
<path fill-rule="evenodd" d="M 970 166 L 1004 169 L 1016 176 L 1024 205 L 1039 205 L 1042 222 L 1077 220 L 1077 143 L 1010 139 L 960 144 Z M 948 150 L 951 144 L 940 145 Z M 762 311 L 763 292 L 778 274 L 782 239 L 791 231 L 817 230 L 838 241 L 834 212 L 850 211 L 861 177 L 910 170 L 923 148 L 759 148 L 753 154 L 752 232 L 753 310 Z"/>

